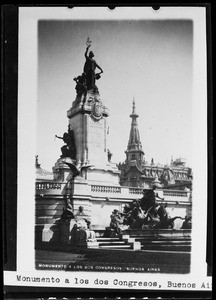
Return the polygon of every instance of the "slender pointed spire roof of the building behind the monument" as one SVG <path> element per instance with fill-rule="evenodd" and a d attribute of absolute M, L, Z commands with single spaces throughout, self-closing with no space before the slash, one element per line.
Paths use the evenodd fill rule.
<path fill-rule="evenodd" d="M 131 121 L 131 130 L 130 130 L 127 151 L 142 151 L 142 144 L 140 141 L 140 135 L 139 135 L 139 129 L 138 129 L 138 123 L 137 123 L 137 118 L 139 117 L 139 115 L 136 113 L 134 99 L 133 99 L 132 114 L 130 114 L 130 117 L 131 117 L 132 121 Z M 143 154 L 144 154 L 144 152 L 143 152 Z"/>

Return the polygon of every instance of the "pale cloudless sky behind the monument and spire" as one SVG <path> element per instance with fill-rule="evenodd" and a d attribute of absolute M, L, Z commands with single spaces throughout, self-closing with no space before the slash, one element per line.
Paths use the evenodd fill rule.
<path fill-rule="evenodd" d="M 67 131 L 67 111 L 85 62 L 86 40 L 104 73 L 97 86 L 108 107 L 112 161 L 126 158 L 135 99 L 145 160 L 192 161 L 193 23 L 190 20 L 38 22 L 37 149 L 52 170 Z"/>

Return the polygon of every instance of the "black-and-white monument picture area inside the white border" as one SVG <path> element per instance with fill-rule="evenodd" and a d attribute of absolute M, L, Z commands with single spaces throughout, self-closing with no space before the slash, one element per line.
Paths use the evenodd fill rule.
<path fill-rule="evenodd" d="M 193 20 L 37 35 L 36 270 L 189 274 Z"/>

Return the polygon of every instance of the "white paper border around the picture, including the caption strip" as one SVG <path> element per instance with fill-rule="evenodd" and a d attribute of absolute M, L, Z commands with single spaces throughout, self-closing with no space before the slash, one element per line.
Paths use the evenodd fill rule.
<path fill-rule="evenodd" d="M 206 278 L 205 263 L 206 216 L 207 216 L 207 71 L 206 71 L 206 19 L 204 7 L 161 7 L 154 11 L 151 7 L 117 7 L 108 8 L 20 8 L 19 9 L 19 75 L 18 75 L 18 223 L 17 223 L 17 272 L 5 272 L 5 284 L 19 285 L 16 275 L 45 277 L 54 274 L 64 277 L 59 272 L 35 271 L 34 264 L 34 196 L 35 173 L 34 156 L 36 149 L 36 112 L 37 112 L 37 22 L 39 19 L 55 20 L 126 20 L 126 19 L 192 19 L 194 30 L 193 53 L 193 236 L 192 264 L 188 275 L 164 274 L 116 274 L 122 278 L 148 277 L 148 280 L 168 278 L 188 280 L 197 283 Z M 70 277 L 81 276 L 70 273 Z M 25 275 L 26 274 L 26 275 Z M 199 274 L 199 277 L 197 277 Z M 84 273 L 82 276 L 94 278 L 112 278 L 108 273 Z M 66 277 L 67 277 L 66 276 Z M 151 279 L 153 278 L 153 279 Z M 21 285 L 29 285 L 22 282 Z M 31 284 L 30 284 L 31 286 Z M 37 284 L 40 286 L 40 284 Z M 43 283 L 42 286 L 52 286 Z M 65 286 L 62 284 L 61 286 Z M 67 286 L 67 285 L 66 285 Z M 70 287 L 72 287 L 70 285 Z M 197 284 L 198 288 L 199 284 Z M 84 287 L 84 286 L 82 286 Z M 88 285 L 87 287 L 95 287 Z M 103 286 L 104 288 L 104 286 Z M 107 287 L 106 287 L 107 288 Z M 111 283 L 109 288 L 115 288 Z M 166 289 L 166 288 L 165 288 Z M 199 288 L 198 288 L 199 289 Z"/>

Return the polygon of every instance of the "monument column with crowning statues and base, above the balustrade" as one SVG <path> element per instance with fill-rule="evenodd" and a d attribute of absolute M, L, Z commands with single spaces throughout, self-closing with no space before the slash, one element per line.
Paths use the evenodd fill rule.
<path fill-rule="evenodd" d="M 81 174 L 85 180 L 103 182 L 105 185 L 119 185 L 119 170 L 111 162 L 107 145 L 108 108 L 103 104 L 96 86 L 96 81 L 100 79 L 103 70 L 93 59 L 94 53 L 89 52 L 90 46 L 87 41 L 83 73 L 74 78 L 76 98 L 67 111 L 68 133 L 63 136 L 67 145 L 61 148 L 62 156 L 53 171 L 56 179 L 59 179 L 59 176 L 64 179 L 63 173 L 67 173 L 64 171 L 65 163 L 75 165 L 80 170 L 89 166 Z M 100 73 L 96 73 L 97 69 Z"/>

